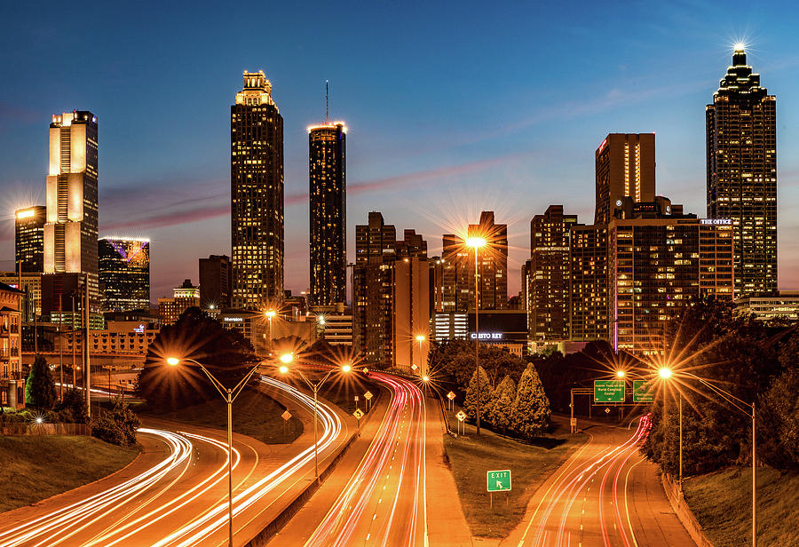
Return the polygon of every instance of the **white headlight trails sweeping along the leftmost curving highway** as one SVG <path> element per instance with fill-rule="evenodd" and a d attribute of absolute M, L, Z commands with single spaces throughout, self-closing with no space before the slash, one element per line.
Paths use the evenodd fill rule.
<path fill-rule="evenodd" d="M 306 411 L 312 412 L 313 400 L 305 393 L 271 377 L 261 377 L 260 381 L 285 392 Z M 323 402 L 319 405 L 319 420 L 319 450 L 323 455 L 339 438 L 343 423 Z M 227 478 L 226 442 L 197 432 L 148 428 L 139 432 L 161 440 L 170 451 L 169 456 L 104 492 L 24 520 L 10 529 L 0 526 L 0 547 L 226 544 L 227 495 L 223 488 L 226 484 L 222 484 Z M 199 450 L 201 445 L 206 448 Z M 249 455 L 248 469 L 240 470 L 235 477 L 237 489 L 250 480 L 258 462 L 256 449 L 237 441 L 233 446 L 233 470 L 242 461 L 240 448 L 243 447 L 254 456 Z M 201 452 L 207 461 L 202 465 L 202 472 L 198 472 L 195 466 Z M 257 478 L 249 487 L 234 492 L 236 530 L 257 519 L 273 503 L 274 499 L 267 496 L 275 488 L 289 480 L 303 480 L 308 472 L 312 473 L 312 460 L 313 446 L 310 445 L 264 477 Z M 194 476 L 190 476 L 191 472 Z"/>

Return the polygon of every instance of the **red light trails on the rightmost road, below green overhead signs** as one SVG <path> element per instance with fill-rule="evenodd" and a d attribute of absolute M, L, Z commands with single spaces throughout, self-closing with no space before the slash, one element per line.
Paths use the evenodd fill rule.
<path fill-rule="evenodd" d="M 603 446 L 585 457 L 580 457 L 581 451 L 575 454 L 544 493 L 518 547 L 637 547 L 629 514 L 625 519 L 621 513 L 622 497 L 624 510 L 629 511 L 629 471 L 620 487 L 621 472 L 637 455 L 651 427 L 652 416 L 647 414 L 638 421 L 636 432 L 621 443 Z M 591 486 L 600 476 L 599 487 L 592 492 Z M 527 543 L 527 531 L 534 525 L 535 533 Z"/>

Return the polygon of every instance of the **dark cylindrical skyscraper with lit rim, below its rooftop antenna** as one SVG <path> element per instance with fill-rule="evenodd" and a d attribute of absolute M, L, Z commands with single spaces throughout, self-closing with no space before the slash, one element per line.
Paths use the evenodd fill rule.
<path fill-rule="evenodd" d="M 347 129 L 344 123 L 308 128 L 311 202 L 311 305 L 346 300 Z"/>

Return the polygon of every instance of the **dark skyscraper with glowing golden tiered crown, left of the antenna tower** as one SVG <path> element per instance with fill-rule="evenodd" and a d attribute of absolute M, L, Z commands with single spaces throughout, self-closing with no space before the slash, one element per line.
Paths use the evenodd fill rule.
<path fill-rule="evenodd" d="M 230 108 L 233 306 L 283 295 L 283 118 L 264 71 L 244 72 Z"/>

